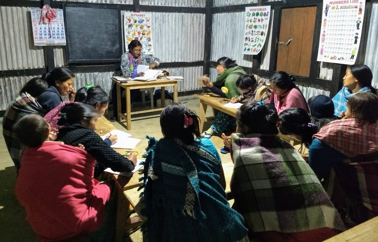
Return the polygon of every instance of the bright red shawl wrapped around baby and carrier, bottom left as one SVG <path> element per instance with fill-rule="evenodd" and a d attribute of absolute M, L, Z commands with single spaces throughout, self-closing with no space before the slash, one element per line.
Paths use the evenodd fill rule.
<path fill-rule="evenodd" d="M 62 240 L 100 228 L 110 187 L 93 179 L 96 160 L 61 142 L 26 147 L 15 187 L 26 220 L 42 241 Z"/>

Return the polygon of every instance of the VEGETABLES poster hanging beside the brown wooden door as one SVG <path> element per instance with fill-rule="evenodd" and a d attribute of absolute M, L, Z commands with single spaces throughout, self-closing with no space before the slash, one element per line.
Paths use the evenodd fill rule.
<path fill-rule="evenodd" d="M 268 36 L 270 6 L 245 8 L 245 31 L 242 54 L 257 55 Z"/>

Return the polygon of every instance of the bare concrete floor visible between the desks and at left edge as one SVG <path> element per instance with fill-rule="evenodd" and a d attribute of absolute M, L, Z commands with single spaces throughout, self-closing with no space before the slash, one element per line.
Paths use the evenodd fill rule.
<path fill-rule="evenodd" d="M 184 103 L 187 108 L 195 111 L 199 114 L 199 103 L 198 99 L 193 96 L 180 97 L 179 101 Z M 146 104 L 147 108 L 149 103 Z M 137 105 L 133 108 L 137 109 Z M 133 110 L 134 111 L 134 110 Z M 112 112 L 105 114 L 106 117 L 111 115 Z M 208 108 L 206 112 L 206 117 L 213 116 L 212 109 Z M 153 116 L 139 116 L 133 118 L 132 120 L 132 130 L 127 131 L 118 122 L 113 123 L 117 129 L 125 131 L 132 134 L 132 137 L 141 139 L 141 142 L 137 145 L 140 150 L 144 150 L 147 147 L 146 135 L 154 136 L 156 139 L 162 137 L 160 131 L 159 114 Z M 2 122 L 2 118 L 0 118 Z M 211 122 L 207 122 L 204 125 L 204 130 L 207 130 Z M 2 126 L 0 125 L 0 133 L 2 133 Z M 212 136 L 211 141 L 215 144 L 215 147 L 223 147 L 222 138 L 218 136 Z M 222 158 L 223 165 L 229 165 L 231 162 L 231 157 L 229 154 L 220 154 Z M 228 163 L 228 164 L 227 164 Z M 41 177 L 43 179 L 43 177 Z M 31 226 L 25 221 L 25 211 L 20 206 L 19 202 L 15 198 L 14 186 L 16 181 L 16 172 L 14 164 L 9 156 L 8 150 L 1 135 L 0 138 L 0 241 L 4 242 L 19 242 L 28 241 L 34 242 L 38 241 L 36 234 L 31 229 Z M 137 231 L 129 237 L 124 237 L 124 242 L 141 242 L 142 236 L 141 232 Z"/>

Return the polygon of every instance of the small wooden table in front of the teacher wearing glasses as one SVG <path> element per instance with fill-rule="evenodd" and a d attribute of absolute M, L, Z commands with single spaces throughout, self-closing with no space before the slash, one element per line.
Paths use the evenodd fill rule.
<path fill-rule="evenodd" d="M 113 80 L 113 79 L 112 79 Z M 113 80 L 114 81 L 114 80 Z M 121 121 L 122 118 L 126 120 L 126 129 L 131 130 L 131 115 L 132 114 L 141 114 L 147 112 L 155 112 L 161 111 L 164 109 L 165 104 L 165 87 L 173 86 L 173 102 L 177 103 L 177 82 L 181 81 L 181 79 L 158 79 L 156 81 L 127 81 L 127 83 L 121 83 L 120 81 L 115 81 L 117 85 L 117 114 L 118 120 Z M 121 87 L 126 89 L 126 113 L 122 113 L 121 111 Z M 150 87 L 161 87 L 161 107 L 162 108 L 154 108 L 149 110 L 131 111 L 131 101 L 130 101 L 130 90 L 131 89 L 139 89 L 139 88 L 150 88 Z M 151 100 L 152 101 L 152 100 Z"/>

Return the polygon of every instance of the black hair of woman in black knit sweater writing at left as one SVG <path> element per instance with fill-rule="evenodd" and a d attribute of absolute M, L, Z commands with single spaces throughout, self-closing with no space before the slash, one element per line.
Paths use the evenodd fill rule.
<path fill-rule="evenodd" d="M 91 119 L 98 117 L 98 112 L 92 106 L 85 103 L 67 103 L 60 109 L 60 119 L 58 125 L 70 126 L 73 124 L 81 124 L 87 126 Z M 84 124 L 83 124 L 84 123 Z"/>

